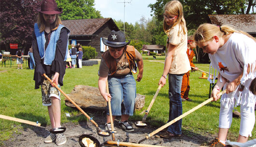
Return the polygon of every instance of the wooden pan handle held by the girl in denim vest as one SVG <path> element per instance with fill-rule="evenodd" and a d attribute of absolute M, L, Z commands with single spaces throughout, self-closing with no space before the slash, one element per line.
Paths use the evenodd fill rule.
<path fill-rule="evenodd" d="M 81 112 L 85 115 L 85 117 L 86 117 L 88 120 L 90 120 L 97 128 L 99 127 L 98 124 L 97 124 L 94 120 L 92 120 L 92 119 L 90 118 L 90 116 L 87 115 L 87 114 L 85 113 L 85 111 L 84 111 L 83 109 L 81 109 L 81 107 L 79 107 L 79 106 L 69 97 L 69 95 L 65 94 L 54 82 L 52 82 L 52 80 L 51 80 L 48 76 L 46 76 L 45 74 L 43 74 L 43 76 L 44 76 L 47 80 L 49 80 L 49 81 L 57 88 L 58 91 L 60 91 L 64 96 L 66 96 L 67 99 L 68 99 L 79 111 L 81 111 Z"/>

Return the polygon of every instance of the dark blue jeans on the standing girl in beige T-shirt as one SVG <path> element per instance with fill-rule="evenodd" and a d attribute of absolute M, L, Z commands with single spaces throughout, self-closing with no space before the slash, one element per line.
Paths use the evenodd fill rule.
<path fill-rule="evenodd" d="M 170 110 L 169 110 L 169 121 L 182 115 L 182 101 L 181 101 L 181 85 L 184 74 L 175 75 L 169 74 L 169 99 L 170 99 Z M 182 119 L 176 121 L 168 127 L 167 131 L 171 134 L 181 134 Z"/>

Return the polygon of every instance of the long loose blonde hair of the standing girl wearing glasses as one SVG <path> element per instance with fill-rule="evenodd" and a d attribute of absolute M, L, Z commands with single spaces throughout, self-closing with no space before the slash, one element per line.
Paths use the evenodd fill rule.
<path fill-rule="evenodd" d="M 168 26 L 166 24 L 166 22 L 164 21 L 164 32 L 166 34 L 168 34 L 168 32 L 171 30 L 172 27 L 176 26 L 176 25 L 180 25 L 180 27 L 182 28 L 180 31 L 179 31 L 179 34 L 183 31 L 184 34 L 186 34 L 187 32 L 187 29 L 186 29 L 186 22 L 185 22 L 185 19 L 184 19 L 184 15 L 183 15 L 183 7 L 182 7 L 182 4 L 180 1 L 178 0 L 171 0 L 169 2 L 167 2 L 164 6 L 164 12 L 167 11 L 168 13 L 170 14 L 173 14 L 173 15 L 177 15 L 177 21 L 171 25 L 171 26 Z"/>

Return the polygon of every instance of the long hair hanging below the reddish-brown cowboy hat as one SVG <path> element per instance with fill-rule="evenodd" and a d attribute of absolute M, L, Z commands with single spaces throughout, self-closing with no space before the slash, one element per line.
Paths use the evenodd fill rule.
<path fill-rule="evenodd" d="M 43 13 L 38 13 L 38 17 L 37 17 L 37 24 L 39 26 L 40 32 L 43 32 L 45 29 L 45 20 L 43 19 Z M 58 25 L 62 24 L 61 20 L 58 16 L 58 14 L 56 14 L 56 19 L 55 22 L 53 23 L 53 29 L 51 29 L 51 31 L 54 31 L 58 28 Z"/>

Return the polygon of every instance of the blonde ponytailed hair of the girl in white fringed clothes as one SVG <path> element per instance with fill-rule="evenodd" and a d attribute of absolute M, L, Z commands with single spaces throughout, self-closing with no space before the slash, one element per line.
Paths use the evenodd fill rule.
<path fill-rule="evenodd" d="M 212 25 L 212 24 L 202 24 L 198 27 L 196 32 L 193 35 L 194 40 L 196 43 L 206 42 L 213 40 L 213 36 L 218 36 L 219 38 L 223 37 L 224 35 L 229 35 L 232 33 L 242 33 L 250 38 L 252 38 L 254 41 L 256 41 L 255 38 L 253 38 L 251 35 L 249 35 L 246 32 L 235 30 L 232 27 L 229 27 L 227 25 L 223 25 L 221 27 Z"/>

